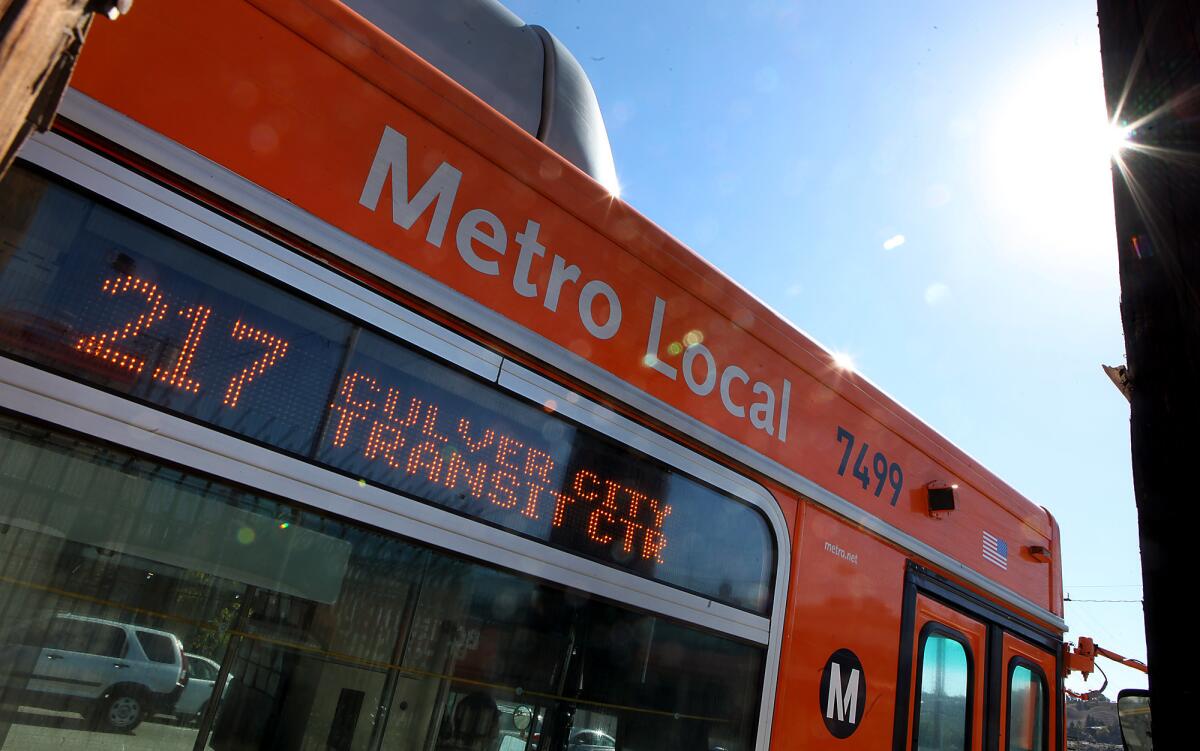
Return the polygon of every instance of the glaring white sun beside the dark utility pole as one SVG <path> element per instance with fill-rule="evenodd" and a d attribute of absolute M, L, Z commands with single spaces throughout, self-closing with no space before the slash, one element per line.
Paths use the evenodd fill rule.
<path fill-rule="evenodd" d="M 1046 263 L 1111 258 L 1110 158 L 1129 134 L 1106 121 L 1099 52 L 1052 55 L 1009 80 L 984 143 L 1006 246 Z"/>

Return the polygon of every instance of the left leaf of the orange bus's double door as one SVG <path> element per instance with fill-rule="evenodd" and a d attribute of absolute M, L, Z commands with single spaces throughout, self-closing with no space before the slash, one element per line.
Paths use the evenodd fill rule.
<path fill-rule="evenodd" d="M 988 626 L 924 594 L 916 599 L 906 749 L 982 751 Z"/>

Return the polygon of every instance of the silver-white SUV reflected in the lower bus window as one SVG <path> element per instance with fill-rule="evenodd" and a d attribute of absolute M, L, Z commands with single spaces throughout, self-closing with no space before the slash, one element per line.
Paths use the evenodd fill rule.
<path fill-rule="evenodd" d="M 132 731 L 170 711 L 187 685 L 184 645 L 170 632 L 73 613 L 0 633 L 0 697 L 78 711 L 97 727 Z"/>

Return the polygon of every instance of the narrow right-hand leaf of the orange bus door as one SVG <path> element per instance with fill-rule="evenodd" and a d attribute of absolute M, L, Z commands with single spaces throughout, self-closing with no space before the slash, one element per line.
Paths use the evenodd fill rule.
<path fill-rule="evenodd" d="M 1055 734 L 1051 711 L 1055 655 L 1006 632 L 1001 641 L 1001 751 L 1049 751 Z"/>

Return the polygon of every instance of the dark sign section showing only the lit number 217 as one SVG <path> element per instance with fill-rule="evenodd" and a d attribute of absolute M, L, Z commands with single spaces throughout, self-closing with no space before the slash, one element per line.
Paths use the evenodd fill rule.
<path fill-rule="evenodd" d="M 350 325 L 186 241 L 52 186 L 4 181 L 0 343 L 305 452 Z"/>

